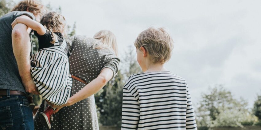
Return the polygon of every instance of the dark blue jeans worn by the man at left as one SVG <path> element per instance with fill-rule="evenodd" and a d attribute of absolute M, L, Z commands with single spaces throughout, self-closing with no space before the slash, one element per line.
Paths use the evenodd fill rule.
<path fill-rule="evenodd" d="M 23 95 L 0 96 L 0 130 L 34 130 L 33 112 Z"/>

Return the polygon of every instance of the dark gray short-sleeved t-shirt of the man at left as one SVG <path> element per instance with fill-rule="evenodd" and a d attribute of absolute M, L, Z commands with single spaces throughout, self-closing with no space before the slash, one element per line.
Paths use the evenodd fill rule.
<path fill-rule="evenodd" d="M 0 18 L 0 89 L 25 92 L 12 47 L 11 24 L 21 15 L 35 20 L 33 13 L 26 11 L 13 11 Z"/>

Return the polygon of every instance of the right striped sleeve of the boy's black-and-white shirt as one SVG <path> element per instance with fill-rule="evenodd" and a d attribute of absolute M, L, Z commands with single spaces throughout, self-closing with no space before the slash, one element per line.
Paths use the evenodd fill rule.
<path fill-rule="evenodd" d="M 189 87 L 187 86 L 187 111 L 186 111 L 186 129 L 197 130 L 197 124 L 195 120 L 195 113 L 191 101 L 191 95 Z"/>

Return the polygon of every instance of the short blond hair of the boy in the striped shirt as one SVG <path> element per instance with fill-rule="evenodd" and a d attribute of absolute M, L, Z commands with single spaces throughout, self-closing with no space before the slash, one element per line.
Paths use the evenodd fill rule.
<path fill-rule="evenodd" d="M 150 27 L 138 35 L 134 46 L 139 50 L 143 46 L 153 63 L 161 62 L 163 64 L 171 57 L 173 40 L 165 28 Z"/>

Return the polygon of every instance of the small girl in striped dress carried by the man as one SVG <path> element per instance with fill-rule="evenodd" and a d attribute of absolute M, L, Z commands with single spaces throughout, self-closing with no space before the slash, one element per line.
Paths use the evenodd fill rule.
<path fill-rule="evenodd" d="M 39 41 L 38 53 L 30 58 L 31 74 L 40 95 L 56 106 L 66 104 L 70 98 L 72 80 L 68 63 L 70 53 L 64 39 L 65 18 L 56 12 L 50 12 L 42 17 L 41 23 L 18 17 L 12 26 L 18 23 L 32 28 Z M 49 106 L 40 113 L 41 123 L 48 128 L 51 128 L 50 117 L 54 110 L 55 108 Z"/>

